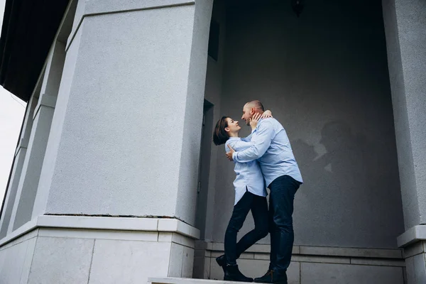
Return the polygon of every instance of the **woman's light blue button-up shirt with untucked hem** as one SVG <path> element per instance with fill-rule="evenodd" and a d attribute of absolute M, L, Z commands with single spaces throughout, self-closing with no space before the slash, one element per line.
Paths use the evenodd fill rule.
<path fill-rule="evenodd" d="M 236 151 L 244 151 L 244 149 L 253 146 L 253 143 L 246 141 L 245 138 L 230 137 L 225 143 L 226 152 L 229 152 L 228 145 L 231 145 Z M 258 161 L 251 160 L 248 163 L 238 163 L 234 160 L 234 171 L 236 173 L 236 178 L 234 180 L 234 205 L 241 200 L 241 197 L 243 197 L 246 191 L 253 193 L 253 195 L 263 197 L 267 195 L 265 181 L 263 180 L 261 167 Z"/>

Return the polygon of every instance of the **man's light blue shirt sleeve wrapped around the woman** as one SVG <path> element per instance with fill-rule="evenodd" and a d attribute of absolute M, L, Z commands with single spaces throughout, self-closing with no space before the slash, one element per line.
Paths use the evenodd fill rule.
<path fill-rule="evenodd" d="M 253 146 L 244 151 L 234 152 L 232 154 L 232 159 L 239 163 L 247 163 L 251 160 L 261 158 L 268 150 L 269 146 L 271 146 L 273 133 L 273 125 L 271 122 L 267 120 L 263 121 L 263 123 L 258 126 L 258 129 L 251 135 Z"/>

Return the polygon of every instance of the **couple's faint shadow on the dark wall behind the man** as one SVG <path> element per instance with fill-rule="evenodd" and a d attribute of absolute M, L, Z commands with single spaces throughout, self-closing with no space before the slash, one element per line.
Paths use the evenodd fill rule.
<path fill-rule="evenodd" d="M 370 233 L 366 139 L 344 122 L 331 121 L 323 126 L 319 142 L 316 147 L 292 142 L 305 182 L 295 197 L 295 244 L 361 245 L 363 234 Z"/>

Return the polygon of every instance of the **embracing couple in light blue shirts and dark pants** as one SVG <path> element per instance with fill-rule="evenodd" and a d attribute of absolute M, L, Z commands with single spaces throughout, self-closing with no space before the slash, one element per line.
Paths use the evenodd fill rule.
<path fill-rule="evenodd" d="M 216 145 L 225 144 L 226 156 L 234 160 L 236 179 L 234 210 L 226 228 L 223 256 L 216 261 L 224 270 L 224 280 L 253 282 L 236 264 L 241 253 L 271 234 L 271 261 L 257 283 L 287 284 L 286 271 L 293 250 L 293 200 L 302 176 L 283 126 L 265 111 L 259 101 L 244 105 L 241 117 L 251 134 L 239 138 L 238 121 L 223 116 L 213 133 Z M 269 210 L 266 187 L 271 190 Z M 255 228 L 236 242 L 236 234 L 251 210 Z"/>

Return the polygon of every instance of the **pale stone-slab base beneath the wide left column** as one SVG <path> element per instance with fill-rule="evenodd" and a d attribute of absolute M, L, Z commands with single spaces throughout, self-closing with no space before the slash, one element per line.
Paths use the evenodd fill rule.
<path fill-rule="evenodd" d="M 190 278 L 200 234 L 178 219 L 41 216 L 31 225 L 0 241 L 0 283 Z"/>

